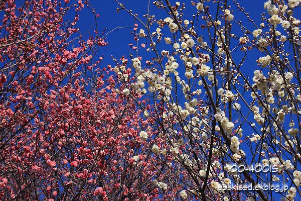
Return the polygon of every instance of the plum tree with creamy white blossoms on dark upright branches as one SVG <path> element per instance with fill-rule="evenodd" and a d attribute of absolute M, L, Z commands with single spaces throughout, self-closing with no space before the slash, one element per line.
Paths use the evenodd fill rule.
<path fill-rule="evenodd" d="M 115 2 L 136 22 L 114 70 L 154 121 L 158 200 L 300 199 L 300 1 L 265 2 L 259 23 L 236 0 L 148 1 L 143 18 Z"/>

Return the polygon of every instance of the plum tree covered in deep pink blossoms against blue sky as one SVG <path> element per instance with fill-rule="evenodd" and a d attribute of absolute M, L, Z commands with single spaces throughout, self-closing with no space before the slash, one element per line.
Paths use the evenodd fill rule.
<path fill-rule="evenodd" d="M 100 67 L 105 35 L 83 40 L 85 7 L 0 2 L 1 200 L 132 200 L 155 189 L 139 137 L 152 121 L 120 93 L 111 66 Z"/>

